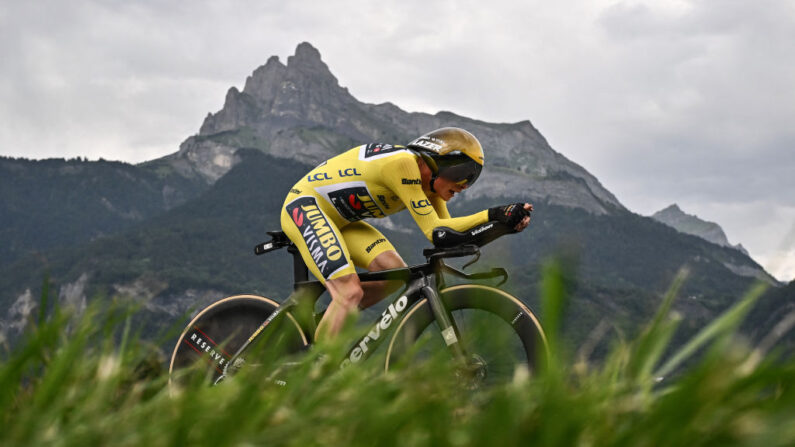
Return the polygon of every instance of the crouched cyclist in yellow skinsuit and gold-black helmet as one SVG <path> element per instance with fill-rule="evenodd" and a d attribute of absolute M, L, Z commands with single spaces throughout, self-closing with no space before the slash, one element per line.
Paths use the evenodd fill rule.
<path fill-rule="evenodd" d="M 406 266 L 384 235 L 362 219 L 408 209 L 429 240 L 436 227 L 466 231 L 496 220 L 522 231 L 530 224 L 529 203 L 450 216 L 446 202 L 477 180 L 483 163 L 483 148 L 474 135 L 445 127 L 406 146 L 355 147 L 324 161 L 290 189 L 282 230 L 332 298 L 316 339 L 337 334 L 348 315 L 391 292 L 386 282 L 367 283 L 363 289 L 356 266 L 369 271 Z"/>

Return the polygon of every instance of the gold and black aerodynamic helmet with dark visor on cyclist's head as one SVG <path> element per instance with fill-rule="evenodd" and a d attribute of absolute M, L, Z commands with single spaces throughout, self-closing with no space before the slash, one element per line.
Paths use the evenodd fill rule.
<path fill-rule="evenodd" d="M 475 183 L 483 170 L 483 147 L 480 141 L 458 127 L 443 127 L 428 132 L 406 147 L 422 156 L 434 177 L 444 177 L 469 186 Z"/>

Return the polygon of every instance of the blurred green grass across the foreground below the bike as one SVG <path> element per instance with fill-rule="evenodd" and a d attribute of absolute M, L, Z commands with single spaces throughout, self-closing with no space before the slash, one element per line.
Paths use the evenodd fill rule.
<path fill-rule="evenodd" d="M 42 313 L 0 363 L 0 445 L 795 444 L 795 360 L 736 333 L 760 288 L 669 352 L 681 275 L 643 332 L 592 364 L 560 347 L 563 278 L 547 266 L 547 366 L 477 393 L 444 362 L 340 371 L 314 354 L 287 387 L 244 369 L 217 387 L 169 388 L 162 354 L 134 335 L 124 306 Z M 341 349 L 322 347 L 326 359 Z"/>

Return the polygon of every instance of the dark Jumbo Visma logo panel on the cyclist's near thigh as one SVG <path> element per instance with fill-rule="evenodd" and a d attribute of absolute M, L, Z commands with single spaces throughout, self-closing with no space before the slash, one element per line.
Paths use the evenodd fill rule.
<path fill-rule="evenodd" d="M 328 279 L 337 270 L 348 266 L 339 239 L 326 216 L 318 209 L 314 197 L 299 197 L 285 209 L 301 231 L 309 254 L 324 278 Z"/>

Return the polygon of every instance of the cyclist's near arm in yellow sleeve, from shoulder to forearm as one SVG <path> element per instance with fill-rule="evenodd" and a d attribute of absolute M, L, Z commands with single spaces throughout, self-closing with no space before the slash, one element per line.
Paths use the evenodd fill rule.
<path fill-rule="evenodd" d="M 406 208 L 409 209 L 411 217 L 417 222 L 422 233 L 428 240 L 432 240 L 433 229 L 436 227 L 448 227 L 456 231 L 466 231 L 476 225 L 488 221 L 488 211 L 483 210 L 469 216 L 449 217 L 447 207 L 443 208 L 442 217 L 436 211 L 431 199 L 422 191 L 422 186 L 413 182 L 403 182 L 403 179 L 415 180 L 420 178 L 420 168 L 413 157 L 395 157 L 381 169 L 381 176 L 384 185 L 391 189 Z M 406 183 L 406 184 L 404 184 Z"/>

